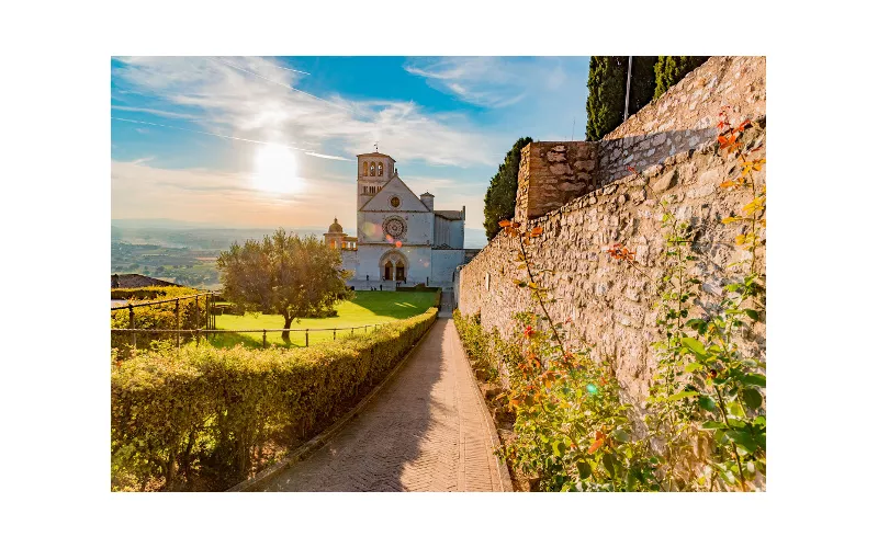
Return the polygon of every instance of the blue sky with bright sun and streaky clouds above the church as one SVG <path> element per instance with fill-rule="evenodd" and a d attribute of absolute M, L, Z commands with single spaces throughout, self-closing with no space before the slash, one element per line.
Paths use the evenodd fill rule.
<path fill-rule="evenodd" d="M 378 144 L 481 229 L 516 139 L 584 138 L 587 78 L 588 57 L 114 57 L 112 218 L 351 233 Z"/>

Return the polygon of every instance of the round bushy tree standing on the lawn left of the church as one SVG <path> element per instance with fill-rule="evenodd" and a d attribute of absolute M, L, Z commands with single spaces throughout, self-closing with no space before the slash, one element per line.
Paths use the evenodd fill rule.
<path fill-rule="evenodd" d="M 347 298 L 341 254 L 314 236 L 300 238 L 279 228 L 262 241 L 235 242 L 216 259 L 223 293 L 248 311 L 283 316 L 283 329 L 293 320 L 330 310 Z M 283 332 L 290 342 L 289 331 Z"/>

